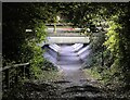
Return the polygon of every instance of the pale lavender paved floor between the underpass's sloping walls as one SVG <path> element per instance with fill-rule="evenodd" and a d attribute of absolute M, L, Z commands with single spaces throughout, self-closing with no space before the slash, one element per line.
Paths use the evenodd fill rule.
<path fill-rule="evenodd" d="M 74 51 L 74 48 L 72 46 L 61 46 L 61 51 L 57 59 L 57 65 L 64 72 L 78 70 L 82 64 L 80 58 L 78 57 L 78 53 Z"/>

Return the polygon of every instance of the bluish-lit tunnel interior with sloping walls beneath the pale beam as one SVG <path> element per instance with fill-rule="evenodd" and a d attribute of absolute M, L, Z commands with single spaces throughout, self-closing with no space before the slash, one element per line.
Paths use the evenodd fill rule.
<path fill-rule="evenodd" d="M 42 48 L 43 57 L 63 71 L 81 68 L 91 51 L 87 43 L 51 43 Z"/>

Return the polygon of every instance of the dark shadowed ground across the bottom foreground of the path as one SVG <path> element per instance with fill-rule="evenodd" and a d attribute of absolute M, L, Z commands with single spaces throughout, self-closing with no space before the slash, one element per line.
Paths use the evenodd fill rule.
<path fill-rule="evenodd" d="M 66 87 L 64 87 L 66 86 Z M 107 93 L 94 85 L 68 80 L 25 83 L 6 92 L 2 100 L 128 100 Z"/>

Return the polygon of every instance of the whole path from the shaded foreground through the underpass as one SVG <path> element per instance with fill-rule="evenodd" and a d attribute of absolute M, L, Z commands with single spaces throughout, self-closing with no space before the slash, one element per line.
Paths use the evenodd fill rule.
<path fill-rule="evenodd" d="M 34 80 L 11 89 L 3 100 L 128 100 L 113 96 L 81 68 L 80 58 L 72 47 L 60 53 L 57 80 Z"/>

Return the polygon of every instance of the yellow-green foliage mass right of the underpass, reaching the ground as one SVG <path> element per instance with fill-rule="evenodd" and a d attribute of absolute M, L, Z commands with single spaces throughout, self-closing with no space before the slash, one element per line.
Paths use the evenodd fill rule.
<path fill-rule="evenodd" d="M 129 85 L 130 62 L 130 35 L 129 35 L 129 7 L 128 3 L 100 3 L 96 12 L 92 12 L 92 23 L 102 25 L 102 21 L 108 24 L 107 33 L 91 34 L 91 66 L 94 72 L 101 73 L 106 83 L 122 83 Z M 82 18 L 83 21 L 83 18 Z M 102 63 L 102 64 L 101 64 Z M 99 68 L 98 68 L 99 67 Z M 93 70 L 93 68 L 92 68 Z M 125 84 L 126 83 L 126 84 Z"/>

